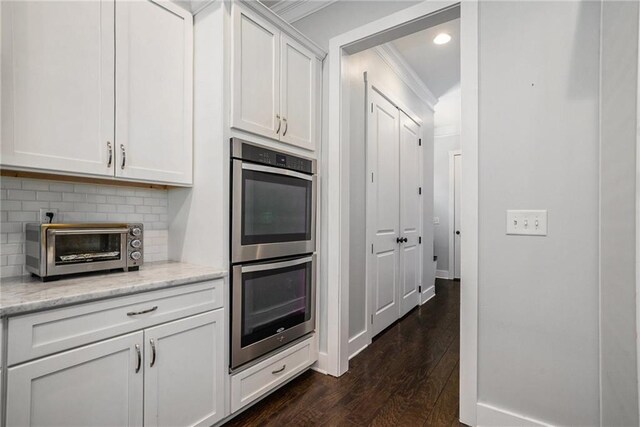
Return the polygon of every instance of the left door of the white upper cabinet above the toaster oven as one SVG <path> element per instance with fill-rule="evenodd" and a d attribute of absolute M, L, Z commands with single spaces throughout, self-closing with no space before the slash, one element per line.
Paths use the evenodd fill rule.
<path fill-rule="evenodd" d="M 113 0 L 0 7 L 2 166 L 113 176 Z"/>

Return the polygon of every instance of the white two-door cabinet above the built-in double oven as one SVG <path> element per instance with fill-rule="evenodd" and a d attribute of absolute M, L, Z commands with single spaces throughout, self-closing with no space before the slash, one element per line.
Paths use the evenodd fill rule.
<path fill-rule="evenodd" d="M 231 126 L 314 150 L 320 61 L 258 14 L 233 7 Z"/>

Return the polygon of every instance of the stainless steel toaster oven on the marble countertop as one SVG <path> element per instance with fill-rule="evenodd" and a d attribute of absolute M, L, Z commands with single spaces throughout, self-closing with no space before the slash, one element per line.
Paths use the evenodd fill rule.
<path fill-rule="evenodd" d="M 27 270 L 42 279 L 137 270 L 144 260 L 142 224 L 27 224 Z"/>

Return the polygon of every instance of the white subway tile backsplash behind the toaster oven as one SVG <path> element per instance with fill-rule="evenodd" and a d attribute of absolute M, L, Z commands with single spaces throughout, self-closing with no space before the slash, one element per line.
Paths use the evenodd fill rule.
<path fill-rule="evenodd" d="M 48 180 L 0 178 L 0 277 L 26 274 L 24 227 L 41 208 L 58 222 L 141 222 L 145 261 L 168 259 L 167 191 Z"/>

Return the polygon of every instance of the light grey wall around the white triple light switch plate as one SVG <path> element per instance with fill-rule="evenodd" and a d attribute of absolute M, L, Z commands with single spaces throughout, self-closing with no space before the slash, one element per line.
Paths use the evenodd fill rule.
<path fill-rule="evenodd" d="M 600 6 L 479 8 L 478 399 L 557 425 L 600 422 Z M 505 235 L 507 209 L 548 236 Z"/>

